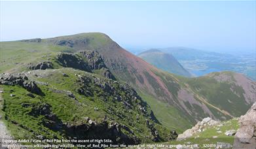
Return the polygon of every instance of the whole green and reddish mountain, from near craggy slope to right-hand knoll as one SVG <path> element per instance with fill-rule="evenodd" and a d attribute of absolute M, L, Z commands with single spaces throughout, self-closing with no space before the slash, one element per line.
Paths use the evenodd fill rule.
<path fill-rule="evenodd" d="M 181 133 L 206 117 L 241 116 L 256 100 L 256 83 L 243 74 L 187 78 L 168 73 L 103 33 L 0 46 L 2 111 L 14 137 L 111 134 L 118 143 L 167 141 L 170 129 Z"/>

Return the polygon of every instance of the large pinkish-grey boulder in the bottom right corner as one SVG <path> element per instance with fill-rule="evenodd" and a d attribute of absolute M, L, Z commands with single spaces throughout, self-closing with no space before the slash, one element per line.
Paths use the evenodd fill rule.
<path fill-rule="evenodd" d="M 233 148 L 255 149 L 256 146 L 256 103 L 239 120 L 238 129 Z"/>

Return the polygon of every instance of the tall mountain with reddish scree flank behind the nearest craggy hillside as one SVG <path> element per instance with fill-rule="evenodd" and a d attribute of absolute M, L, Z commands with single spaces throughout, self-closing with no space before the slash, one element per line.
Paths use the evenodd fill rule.
<path fill-rule="evenodd" d="M 56 61 L 59 52 L 96 50 L 115 78 L 130 84 L 151 105 L 161 124 L 179 132 L 207 116 L 216 120 L 239 116 L 256 100 L 253 97 L 255 82 L 242 75 L 230 84 L 214 75 L 185 78 L 166 73 L 130 54 L 103 33 L 1 42 L 0 48 L 1 73 L 27 72 L 29 63 L 42 61 L 51 61 L 52 68 L 60 69 L 64 65 Z M 104 76 L 98 72 L 100 70 L 92 73 Z M 224 78 L 237 76 L 236 73 L 220 74 Z M 229 107 L 218 104 L 220 100 L 222 103 L 229 102 Z M 236 108 L 241 111 L 234 110 Z M 183 123 L 178 123 L 177 119 Z"/>

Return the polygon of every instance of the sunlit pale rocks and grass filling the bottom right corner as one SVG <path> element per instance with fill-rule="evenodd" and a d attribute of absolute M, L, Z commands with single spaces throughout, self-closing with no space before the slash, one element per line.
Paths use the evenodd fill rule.
<path fill-rule="evenodd" d="M 170 144 L 179 145 L 180 148 L 255 149 L 256 103 L 240 118 L 225 122 L 204 118 Z"/>

